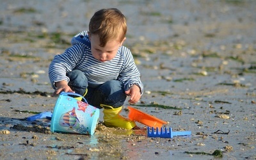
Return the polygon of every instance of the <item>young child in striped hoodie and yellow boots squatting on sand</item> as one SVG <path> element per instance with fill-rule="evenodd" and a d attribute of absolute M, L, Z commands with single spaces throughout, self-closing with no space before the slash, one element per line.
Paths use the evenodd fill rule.
<path fill-rule="evenodd" d="M 116 8 L 93 15 L 89 31 L 72 38 L 72 47 L 56 55 L 49 66 L 53 95 L 76 92 L 89 104 L 103 108 L 107 127 L 132 129 L 136 124 L 119 113 L 126 97 L 135 104 L 143 93 L 140 72 L 131 51 L 122 44 L 127 24 Z"/>

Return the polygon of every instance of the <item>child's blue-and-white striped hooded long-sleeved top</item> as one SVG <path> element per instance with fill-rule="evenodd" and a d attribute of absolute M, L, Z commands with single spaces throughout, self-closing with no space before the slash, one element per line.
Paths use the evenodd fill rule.
<path fill-rule="evenodd" d="M 63 54 L 54 56 L 49 65 L 49 79 L 52 88 L 58 81 L 67 81 L 67 72 L 81 70 L 88 79 L 89 86 L 95 87 L 110 80 L 119 80 L 125 86 L 125 90 L 136 84 L 143 93 L 143 84 L 140 80 L 140 72 L 134 63 L 132 53 L 127 47 L 119 47 L 115 58 L 110 61 L 100 62 L 92 56 L 91 43 L 87 31 L 83 31 L 71 40 L 72 47 L 66 49 Z"/>

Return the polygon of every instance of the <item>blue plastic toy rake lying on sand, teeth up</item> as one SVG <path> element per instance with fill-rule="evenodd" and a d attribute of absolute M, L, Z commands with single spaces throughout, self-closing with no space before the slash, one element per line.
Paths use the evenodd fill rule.
<path fill-rule="evenodd" d="M 161 127 L 160 131 L 157 127 L 155 131 L 154 127 L 152 127 L 151 129 L 150 127 L 148 127 L 147 134 L 148 137 L 173 138 L 173 136 L 190 136 L 191 131 L 173 132 L 171 127 L 169 128 L 169 130 L 167 128 L 163 129 L 163 127 Z"/>

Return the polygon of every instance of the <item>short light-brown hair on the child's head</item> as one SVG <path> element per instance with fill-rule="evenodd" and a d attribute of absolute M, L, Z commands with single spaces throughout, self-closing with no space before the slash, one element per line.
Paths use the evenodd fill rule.
<path fill-rule="evenodd" d="M 91 35 L 98 35 L 100 46 L 109 40 L 124 40 L 127 31 L 125 16 L 116 8 L 102 9 L 94 13 L 89 24 Z"/>

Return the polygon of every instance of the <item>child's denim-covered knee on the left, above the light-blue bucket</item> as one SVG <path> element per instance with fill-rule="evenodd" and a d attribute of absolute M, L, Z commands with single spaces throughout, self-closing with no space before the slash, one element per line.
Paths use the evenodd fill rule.
<path fill-rule="evenodd" d="M 74 92 L 83 95 L 88 87 L 88 80 L 84 73 L 81 70 L 72 70 L 67 73 L 67 76 L 70 79 L 68 86 L 70 86 Z"/>

